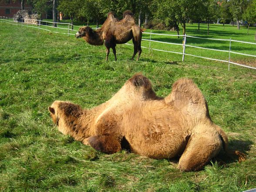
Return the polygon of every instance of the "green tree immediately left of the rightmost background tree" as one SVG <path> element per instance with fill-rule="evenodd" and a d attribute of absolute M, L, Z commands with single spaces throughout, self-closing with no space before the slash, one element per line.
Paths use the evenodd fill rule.
<path fill-rule="evenodd" d="M 247 0 L 230 0 L 230 11 L 232 13 L 233 18 L 236 19 L 237 29 L 240 29 L 239 20 L 242 19 L 246 5 Z"/>

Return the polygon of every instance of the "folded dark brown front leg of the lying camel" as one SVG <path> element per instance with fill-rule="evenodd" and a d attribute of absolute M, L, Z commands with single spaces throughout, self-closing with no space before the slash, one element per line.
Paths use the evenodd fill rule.
<path fill-rule="evenodd" d="M 104 153 L 113 154 L 121 151 L 121 142 L 112 135 L 91 136 L 87 142 L 92 148 Z"/>

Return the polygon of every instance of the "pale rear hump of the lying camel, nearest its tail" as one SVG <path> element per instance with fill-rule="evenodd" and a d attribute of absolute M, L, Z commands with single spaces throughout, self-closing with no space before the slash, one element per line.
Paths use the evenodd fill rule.
<path fill-rule="evenodd" d="M 207 102 L 192 79 L 181 78 L 175 81 L 172 92 L 165 98 L 165 102 L 172 103 L 185 115 L 210 119 Z"/>

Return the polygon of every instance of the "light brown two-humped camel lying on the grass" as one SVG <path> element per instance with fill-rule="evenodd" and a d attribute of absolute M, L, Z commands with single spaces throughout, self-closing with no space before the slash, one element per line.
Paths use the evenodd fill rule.
<path fill-rule="evenodd" d="M 182 78 L 165 98 L 152 90 L 147 77 L 135 74 L 108 101 L 82 109 L 68 101 L 49 107 L 54 123 L 64 135 L 112 154 L 128 141 L 131 152 L 150 158 L 181 155 L 179 169 L 196 171 L 215 157 L 228 138 L 209 116 L 202 92 L 191 79 Z M 243 160 L 243 154 L 235 151 Z"/>

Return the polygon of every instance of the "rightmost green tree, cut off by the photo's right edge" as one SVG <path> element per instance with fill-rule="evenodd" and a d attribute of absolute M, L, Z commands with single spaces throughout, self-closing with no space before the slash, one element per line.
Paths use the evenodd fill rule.
<path fill-rule="evenodd" d="M 248 26 L 247 26 L 247 35 L 248 35 L 250 24 L 256 23 L 256 0 L 251 0 L 249 2 L 248 7 L 243 13 L 243 19 L 246 20 L 248 23 Z M 256 40 L 256 33 L 255 33 L 255 40 Z"/>

